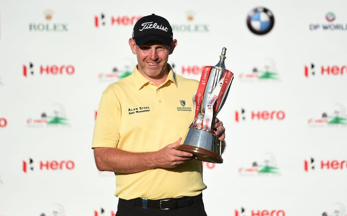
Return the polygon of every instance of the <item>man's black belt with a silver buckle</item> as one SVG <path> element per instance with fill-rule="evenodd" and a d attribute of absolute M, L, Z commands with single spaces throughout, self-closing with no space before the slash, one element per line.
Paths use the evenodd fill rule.
<path fill-rule="evenodd" d="M 195 197 L 167 198 L 161 200 L 147 200 L 147 206 L 160 208 L 161 210 L 181 208 L 193 205 L 194 202 L 202 200 L 202 193 Z M 126 200 L 130 201 L 130 200 Z M 143 206 L 143 199 L 136 198 L 135 205 Z"/>

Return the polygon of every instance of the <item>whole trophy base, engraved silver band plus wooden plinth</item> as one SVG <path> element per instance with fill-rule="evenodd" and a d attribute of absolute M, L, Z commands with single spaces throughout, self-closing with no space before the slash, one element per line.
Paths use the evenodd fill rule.
<path fill-rule="evenodd" d="M 225 146 L 224 141 L 220 141 L 219 136 L 211 131 L 188 128 L 185 138 L 175 149 L 193 153 L 198 160 L 221 164 L 223 144 Z"/>

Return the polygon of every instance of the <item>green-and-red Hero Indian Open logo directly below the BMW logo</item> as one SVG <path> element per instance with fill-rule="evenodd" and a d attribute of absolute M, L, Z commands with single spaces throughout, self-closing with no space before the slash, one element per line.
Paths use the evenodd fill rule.
<path fill-rule="evenodd" d="M 255 82 L 255 81 L 280 81 L 279 74 L 277 72 L 276 63 L 268 58 L 263 62 L 258 63 L 253 67 L 251 73 L 240 73 L 238 80 L 242 82 Z"/>

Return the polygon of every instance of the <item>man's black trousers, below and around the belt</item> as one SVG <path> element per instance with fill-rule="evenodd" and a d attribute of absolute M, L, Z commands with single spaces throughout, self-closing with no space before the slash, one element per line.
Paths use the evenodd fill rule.
<path fill-rule="evenodd" d="M 133 200 L 119 199 L 116 216 L 207 216 L 204 203 L 201 200 L 193 202 L 191 206 L 161 210 L 160 208 L 135 205 Z"/>

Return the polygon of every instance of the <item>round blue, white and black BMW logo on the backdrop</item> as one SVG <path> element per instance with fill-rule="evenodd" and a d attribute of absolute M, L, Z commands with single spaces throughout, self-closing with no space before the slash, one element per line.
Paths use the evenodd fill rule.
<path fill-rule="evenodd" d="M 263 35 L 271 31 L 275 20 L 272 12 L 264 7 L 256 7 L 247 16 L 249 31 L 257 35 Z"/>

